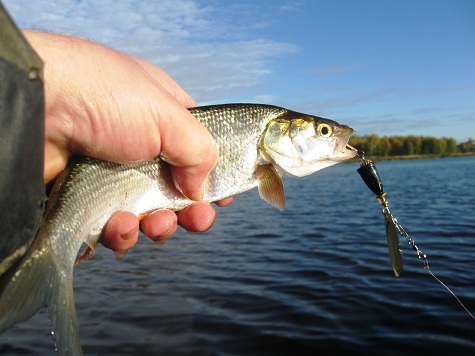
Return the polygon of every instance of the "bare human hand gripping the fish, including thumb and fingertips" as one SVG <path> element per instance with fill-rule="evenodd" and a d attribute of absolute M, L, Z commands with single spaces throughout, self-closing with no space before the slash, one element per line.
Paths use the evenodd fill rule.
<path fill-rule="evenodd" d="M 196 106 L 194 101 L 165 72 L 84 39 L 24 34 L 45 62 L 45 183 L 53 181 L 74 154 L 118 163 L 160 155 L 171 164 L 176 187 L 190 199 L 201 199 L 217 147 L 186 110 Z M 162 242 L 177 224 L 205 231 L 214 219 L 210 204 L 196 202 L 178 214 L 149 214 L 141 226 L 152 240 Z M 102 243 L 116 252 L 127 251 L 138 232 L 135 215 L 117 212 L 104 228 Z"/>

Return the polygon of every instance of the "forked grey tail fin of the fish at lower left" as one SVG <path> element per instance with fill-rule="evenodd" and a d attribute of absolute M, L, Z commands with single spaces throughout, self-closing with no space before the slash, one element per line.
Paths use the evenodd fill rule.
<path fill-rule="evenodd" d="M 0 333 L 45 306 L 58 354 L 82 355 L 72 265 L 58 268 L 49 239 L 39 235 L 23 259 L 0 280 Z"/>

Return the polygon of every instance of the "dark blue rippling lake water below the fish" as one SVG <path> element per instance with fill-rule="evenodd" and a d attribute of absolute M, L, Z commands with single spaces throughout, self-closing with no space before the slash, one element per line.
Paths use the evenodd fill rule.
<path fill-rule="evenodd" d="M 475 158 L 377 166 L 391 211 L 474 312 Z M 403 240 L 394 277 L 357 168 L 286 179 L 283 213 L 253 190 L 204 234 L 143 238 L 123 260 L 100 248 L 75 271 L 85 354 L 473 354 L 475 320 Z M 53 354 L 46 313 L 1 335 L 0 354 Z"/>

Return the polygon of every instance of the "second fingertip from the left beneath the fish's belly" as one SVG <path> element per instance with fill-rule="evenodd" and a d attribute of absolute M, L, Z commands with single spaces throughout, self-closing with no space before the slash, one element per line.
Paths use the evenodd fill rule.
<path fill-rule="evenodd" d="M 164 242 L 175 233 L 177 226 L 177 216 L 170 210 L 154 211 L 141 223 L 142 232 L 154 242 Z"/>

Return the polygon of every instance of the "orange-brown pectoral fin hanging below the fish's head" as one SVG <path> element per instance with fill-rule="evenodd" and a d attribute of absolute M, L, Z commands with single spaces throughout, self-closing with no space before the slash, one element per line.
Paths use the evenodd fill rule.
<path fill-rule="evenodd" d="M 260 197 L 280 211 L 284 210 L 284 184 L 274 166 L 272 164 L 258 166 L 254 175 L 257 177 Z"/>

